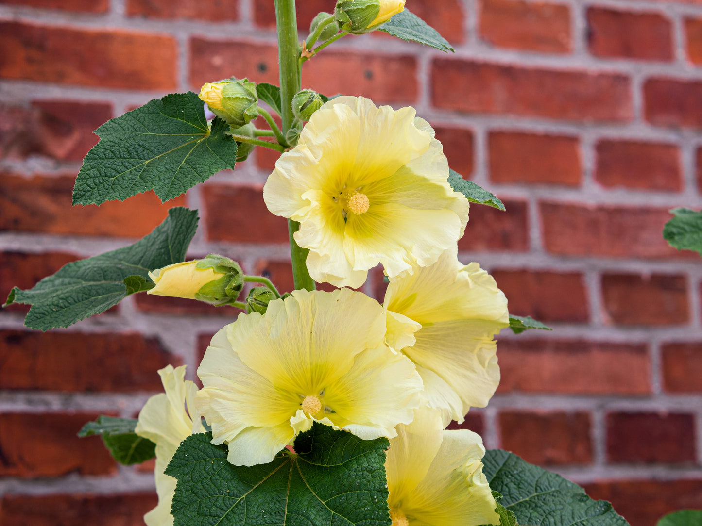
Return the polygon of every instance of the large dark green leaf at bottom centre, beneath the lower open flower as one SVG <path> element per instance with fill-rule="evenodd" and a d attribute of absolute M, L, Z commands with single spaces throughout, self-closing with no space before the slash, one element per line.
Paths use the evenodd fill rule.
<path fill-rule="evenodd" d="M 186 438 L 166 474 L 178 479 L 174 526 L 390 526 L 385 450 L 315 422 L 268 464 L 233 466 L 211 433 Z"/>

